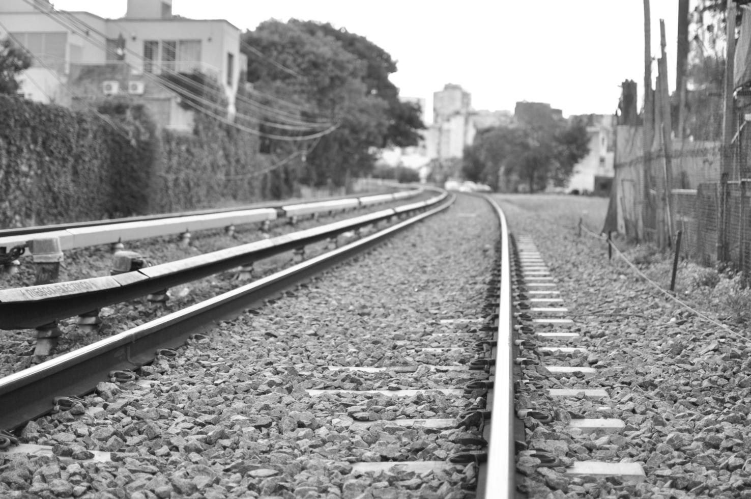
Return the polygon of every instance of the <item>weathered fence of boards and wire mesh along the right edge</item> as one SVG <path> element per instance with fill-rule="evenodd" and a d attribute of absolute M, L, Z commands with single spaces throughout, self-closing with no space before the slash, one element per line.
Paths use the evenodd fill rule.
<path fill-rule="evenodd" d="M 751 274 L 751 127 L 744 124 L 729 147 L 719 138 L 672 139 L 669 148 L 656 139 L 646 155 L 643 126 L 617 126 L 618 231 L 666 249 L 680 230 L 686 258 Z"/>

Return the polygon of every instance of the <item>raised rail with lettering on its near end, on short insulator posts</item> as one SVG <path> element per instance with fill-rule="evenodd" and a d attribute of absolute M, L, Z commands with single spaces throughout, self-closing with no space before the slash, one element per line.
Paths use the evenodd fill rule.
<path fill-rule="evenodd" d="M 161 289 L 219 274 L 366 225 L 383 222 L 410 210 L 421 210 L 441 202 L 447 195 L 443 193 L 406 207 L 381 210 L 116 276 L 0 290 L 0 329 L 36 328 L 55 320 L 134 300 Z"/>

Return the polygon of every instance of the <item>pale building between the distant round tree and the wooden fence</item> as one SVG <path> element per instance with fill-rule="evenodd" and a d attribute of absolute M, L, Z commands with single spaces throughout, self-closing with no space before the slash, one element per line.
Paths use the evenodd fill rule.
<path fill-rule="evenodd" d="M 584 114 L 569 116 L 569 121 L 583 122 L 587 127 L 590 152 L 574 166 L 567 190 L 608 194 L 615 176 L 615 116 Z"/>

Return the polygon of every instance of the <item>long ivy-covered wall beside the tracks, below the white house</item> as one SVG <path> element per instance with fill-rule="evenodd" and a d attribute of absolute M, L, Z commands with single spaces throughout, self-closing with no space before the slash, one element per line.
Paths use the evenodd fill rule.
<path fill-rule="evenodd" d="M 226 206 L 294 194 L 299 163 L 197 113 L 159 131 L 132 101 L 91 112 L 0 95 L 0 228 Z"/>

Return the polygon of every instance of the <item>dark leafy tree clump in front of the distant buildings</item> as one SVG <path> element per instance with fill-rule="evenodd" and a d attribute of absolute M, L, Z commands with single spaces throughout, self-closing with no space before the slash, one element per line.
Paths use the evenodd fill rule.
<path fill-rule="evenodd" d="M 478 132 L 465 148 L 462 171 L 467 180 L 494 189 L 514 190 L 514 184 L 523 183 L 535 192 L 549 183 L 566 185 L 588 152 L 587 129 L 579 122 L 496 126 Z"/>

